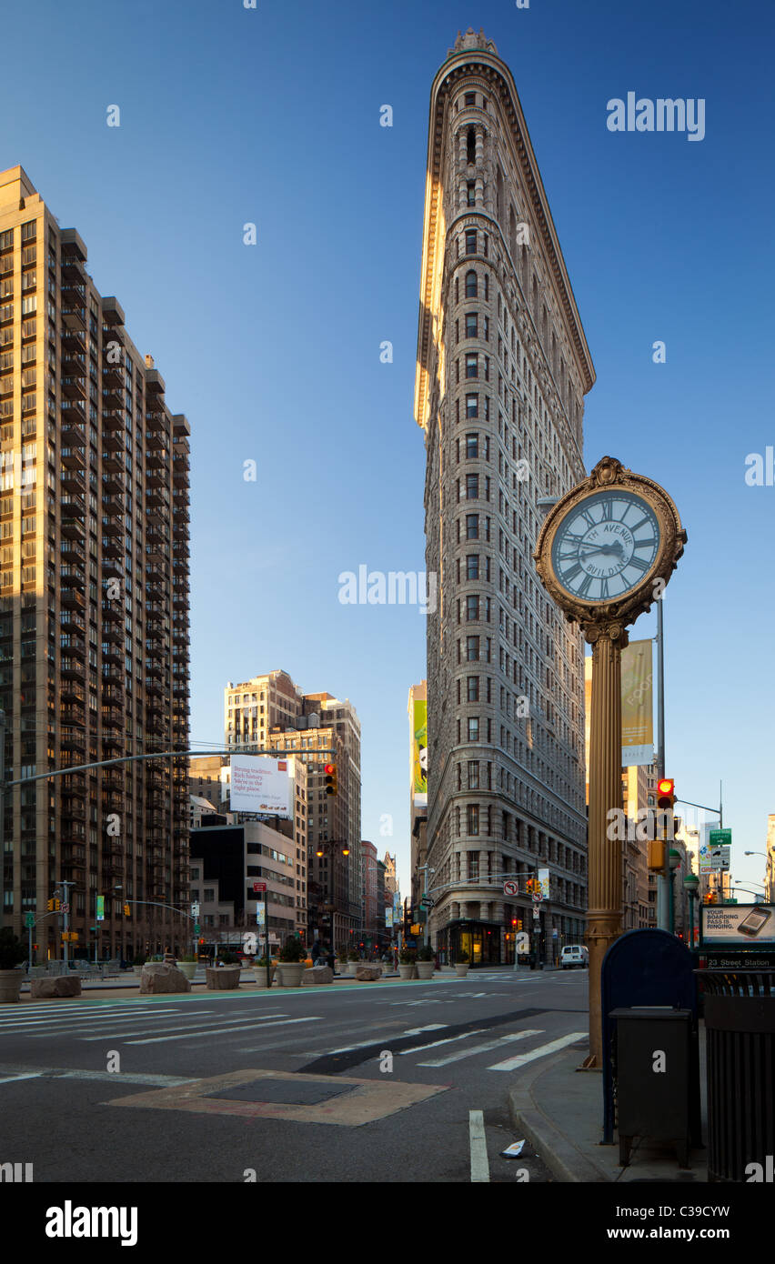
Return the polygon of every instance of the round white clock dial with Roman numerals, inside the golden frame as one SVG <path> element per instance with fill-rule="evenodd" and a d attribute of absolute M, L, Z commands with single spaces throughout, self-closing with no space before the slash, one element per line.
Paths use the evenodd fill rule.
<path fill-rule="evenodd" d="M 640 586 L 659 547 L 659 522 L 649 502 L 612 488 L 568 511 L 555 532 L 551 565 L 573 597 L 616 602 Z"/>

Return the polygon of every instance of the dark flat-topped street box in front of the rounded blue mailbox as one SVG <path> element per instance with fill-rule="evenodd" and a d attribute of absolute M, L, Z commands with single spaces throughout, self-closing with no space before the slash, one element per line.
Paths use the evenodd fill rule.
<path fill-rule="evenodd" d="M 616 1112 L 619 1163 L 630 1163 L 633 1138 L 675 1145 L 689 1167 L 692 1010 L 644 1006 L 612 1010 L 616 1020 Z"/>

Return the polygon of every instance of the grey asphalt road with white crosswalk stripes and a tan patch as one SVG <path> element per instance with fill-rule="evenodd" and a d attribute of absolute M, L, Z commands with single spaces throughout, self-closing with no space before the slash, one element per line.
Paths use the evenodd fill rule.
<path fill-rule="evenodd" d="M 0 1010 L 0 1163 L 35 1182 L 549 1181 L 507 1090 L 588 1030 L 587 971 Z M 480 1112 L 480 1116 L 477 1114 Z"/>

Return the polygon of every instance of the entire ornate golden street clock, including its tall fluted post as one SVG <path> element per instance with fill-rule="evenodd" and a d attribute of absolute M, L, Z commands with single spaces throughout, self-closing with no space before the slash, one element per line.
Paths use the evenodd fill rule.
<path fill-rule="evenodd" d="M 685 542 L 664 488 L 603 456 L 589 478 L 552 506 L 534 552 L 546 592 L 592 645 L 585 1064 L 598 1069 L 601 966 L 622 929 L 622 846 L 606 832 L 609 809 L 622 806 L 622 648 L 627 624 L 661 598 Z"/>

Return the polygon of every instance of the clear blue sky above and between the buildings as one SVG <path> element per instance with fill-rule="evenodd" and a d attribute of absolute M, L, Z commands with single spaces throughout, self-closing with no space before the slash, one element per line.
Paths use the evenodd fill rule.
<path fill-rule="evenodd" d="M 282 667 L 349 698 L 362 833 L 398 854 L 406 894 L 425 617 L 343 604 L 339 576 L 425 569 L 429 101 L 469 25 L 513 73 L 595 365 L 587 468 L 609 454 L 655 478 L 688 531 L 664 607 L 666 774 L 709 805 L 723 781 L 733 875 L 761 882 L 742 852 L 775 811 L 775 487 L 746 483 L 775 445 L 765 0 L 6 8 L 0 167 L 77 228 L 191 423 L 192 746 L 221 744 L 228 680 Z M 704 138 L 611 131 L 630 91 L 702 99 Z M 651 613 L 631 637 L 654 631 Z"/>

